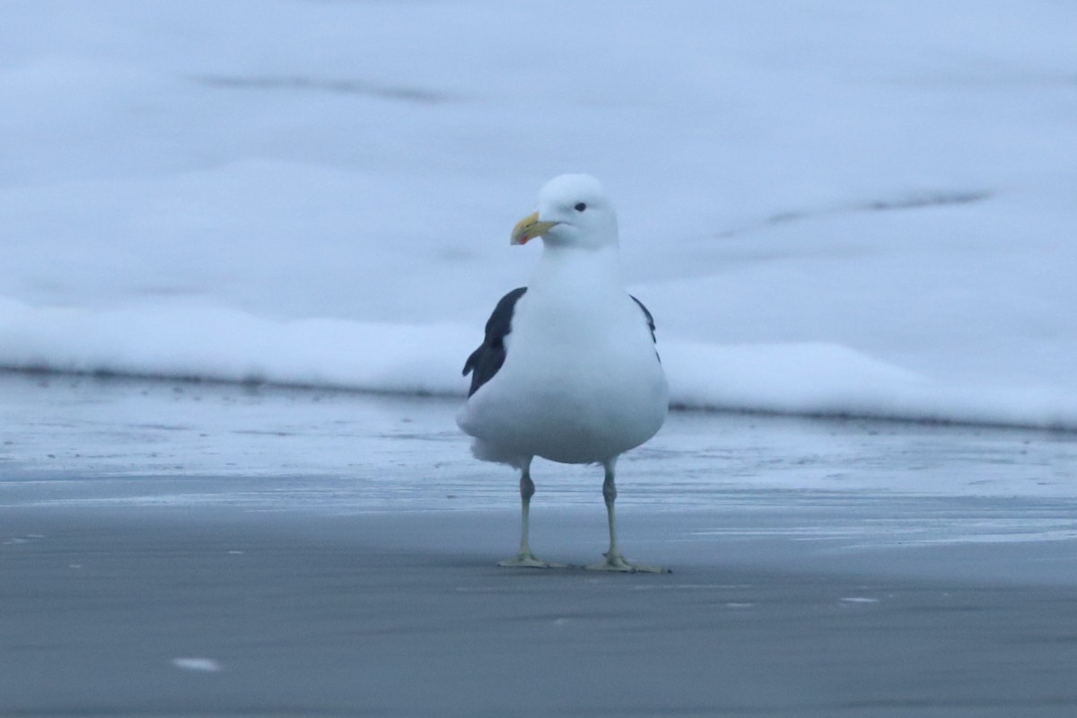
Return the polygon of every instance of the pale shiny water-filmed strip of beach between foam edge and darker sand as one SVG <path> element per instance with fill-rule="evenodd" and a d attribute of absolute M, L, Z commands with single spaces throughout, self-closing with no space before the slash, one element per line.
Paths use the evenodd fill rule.
<path fill-rule="evenodd" d="M 456 402 L 18 374 L 0 375 L 0 396 L 8 507 L 515 517 L 513 470 L 471 457 Z M 1075 536 L 1075 459 L 1065 433 L 675 412 L 623 459 L 618 505 L 626 527 L 696 515 L 655 530 L 686 546 L 1061 540 Z M 536 522 L 587 510 L 601 527 L 598 469 L 537 462 L 534 477 Z"/>

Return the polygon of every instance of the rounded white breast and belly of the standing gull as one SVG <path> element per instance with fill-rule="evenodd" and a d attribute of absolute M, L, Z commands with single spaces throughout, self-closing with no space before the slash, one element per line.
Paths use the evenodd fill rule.
<path fill-rule="evenodd" d="M 658 432 L 666 375 L 640 308 L 621 296 L 571 320 L 556 302 L 520 300 L 504 366 L 458 418 L 488 457 L 602 462 Z"/>

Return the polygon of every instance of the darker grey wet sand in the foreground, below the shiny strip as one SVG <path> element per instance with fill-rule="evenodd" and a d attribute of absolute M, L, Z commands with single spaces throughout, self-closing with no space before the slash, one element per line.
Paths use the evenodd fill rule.
<path fill-rule="evenodd" d="M 556 519 L 578 541 L 584 518 L 536 529 Z M 775 565 L 759 541 L 728 539 L 708 565 L 614 576 L 498 568 L 490 549 L 512 522 L 0 509 L 0 526 L 40 534 L 0 551 L 0 713 L 1071 718 L 1077 706 L 1072 577 L 1013 585 L 992 558 L 978 581 L 956 579 L 982 547 L 909 552 L 945 579 L 895 576 L 890 560 L 850 575 L 865 561 L 847 554 Z M 1054 546 L 1011 546 L 1008 565 Z"/>

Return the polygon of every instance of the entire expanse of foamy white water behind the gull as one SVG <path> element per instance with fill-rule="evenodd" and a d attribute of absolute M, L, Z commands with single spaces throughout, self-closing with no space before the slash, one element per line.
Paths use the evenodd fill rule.
<path fill-rule="evenodd" d="M 589 171 L 675 404 L 1077 427 L 1075 26 L 10 2 L 0 365 L 462 394 L 508 229 Z"/>

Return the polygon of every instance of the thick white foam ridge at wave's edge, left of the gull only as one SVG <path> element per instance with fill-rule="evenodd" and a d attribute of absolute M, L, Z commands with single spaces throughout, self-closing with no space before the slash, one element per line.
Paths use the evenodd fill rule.
<path fill-rule="evenodd" d="M 214 308 L 90 312 L 0 302 L 0 366 L 408 394 L 460 393 L 474 330 L 274 322 Z"/>

